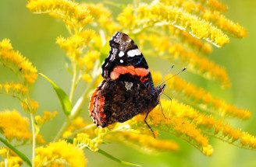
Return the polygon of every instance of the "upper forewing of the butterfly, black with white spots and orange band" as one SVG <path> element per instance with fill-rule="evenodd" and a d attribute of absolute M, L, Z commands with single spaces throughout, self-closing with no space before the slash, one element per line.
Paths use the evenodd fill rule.
<path fill-rule="evenodd" d="M 103 62 L 101 75 L 105 80 L 141 82 L 151 92 L 154 85 L 148 63 L 136 43 L 125 33 L 117 32 L 109 40 L 110 51 Z"/>

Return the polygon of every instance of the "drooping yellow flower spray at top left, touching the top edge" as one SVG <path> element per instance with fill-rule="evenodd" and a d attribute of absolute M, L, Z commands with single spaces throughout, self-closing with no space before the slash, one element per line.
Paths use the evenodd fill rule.
<path fill-rule="evenodd" d="M 53 13 L 63 19 L 69 30 L 84 28 L 93 20 L 85 6 L 69 0 L 30 0 L 27 8 L 33 13 Z"/>

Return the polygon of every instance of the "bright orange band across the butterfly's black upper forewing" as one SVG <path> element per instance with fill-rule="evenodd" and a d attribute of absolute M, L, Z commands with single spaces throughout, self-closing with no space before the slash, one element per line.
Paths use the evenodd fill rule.
<path fill-rule="evenodd" d="M 130 75 L 137 75 L 140 76 L 140 82 L 145 82 L 148 80 L 148 78 L 144 78 L 144 76 L 147 76 L 149 71 L 148 69 L 145 68 L 134 68 L 133 66 L 117 66 L 116 68 L 113 69 L 113 71 L 110 74 L 110 78 L 113 80 L 116 80 L 119 78 L 119 75 L 124 75 L 129 73 Z"/>

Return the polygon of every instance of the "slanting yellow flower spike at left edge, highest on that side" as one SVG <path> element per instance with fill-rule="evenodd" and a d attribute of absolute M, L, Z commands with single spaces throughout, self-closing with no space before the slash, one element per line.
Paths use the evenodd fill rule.
<path fill-rule="evenodd" d="M 37 79 L 37 68 L 34 68 L 18 51 L 12 50 L 9 39 L 0 42 L 0 64 L 20 75 L 20 82 L 24 82 L 25 86 L 32 85 Z"/>

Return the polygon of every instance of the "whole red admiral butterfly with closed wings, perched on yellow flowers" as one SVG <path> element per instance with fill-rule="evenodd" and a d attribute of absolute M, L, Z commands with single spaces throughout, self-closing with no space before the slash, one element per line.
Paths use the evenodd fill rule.
<path fill-rule="evenodd" d="M 158 105 L 165 85 L 154 88 L 147 61 L 128 35 L 117 32 L 109 45 L 101 66 L 105 80 L 94 90 L 89 105 L 94 124 L 106 127 L 146 113 L 148 125 L 148 113 Z"/>

